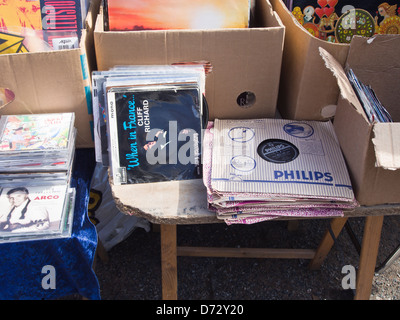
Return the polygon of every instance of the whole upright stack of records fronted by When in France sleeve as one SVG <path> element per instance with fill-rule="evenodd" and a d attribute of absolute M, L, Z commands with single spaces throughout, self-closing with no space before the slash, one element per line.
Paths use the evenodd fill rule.
<path fill-rule="evenodd" d="M 202 64 L 119 66 L 92 81 L 96 161 L 113 184 L 201 178 Z"/>

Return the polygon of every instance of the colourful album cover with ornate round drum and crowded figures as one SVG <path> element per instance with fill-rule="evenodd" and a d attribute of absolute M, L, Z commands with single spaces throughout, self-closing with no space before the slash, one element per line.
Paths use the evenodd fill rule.
<path fill-rule="evenodd" d="M 350 43 L 354 35 L 400 34 L 398 0 L 291 0 L 286 5 L 313 36 Z"/>

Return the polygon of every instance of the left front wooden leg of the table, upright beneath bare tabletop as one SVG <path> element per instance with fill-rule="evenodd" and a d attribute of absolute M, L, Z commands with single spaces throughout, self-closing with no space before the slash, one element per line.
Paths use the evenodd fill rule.
<path fill-rule="evenodd" d="M 162 224 L 160 226 L 160 232 L 162 298 L 163 300 L 177 300 L 176 225 Z"/>

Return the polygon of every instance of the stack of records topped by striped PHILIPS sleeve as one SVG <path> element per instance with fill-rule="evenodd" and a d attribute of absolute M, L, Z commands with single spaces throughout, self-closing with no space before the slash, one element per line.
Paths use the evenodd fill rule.
<path fill-rule="evenodd" d="M 209 208 L 227 224 L 342 216 L 358 205 L 331 122 L 216 119 L 203 145 Z"/>

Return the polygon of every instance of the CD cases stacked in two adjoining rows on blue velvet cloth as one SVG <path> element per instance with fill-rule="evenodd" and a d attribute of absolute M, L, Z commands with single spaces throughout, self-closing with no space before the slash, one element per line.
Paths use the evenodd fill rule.
<path fill-rule="evenodd" d="M 74 113 L 0 118 L 0 243 L 69 237 Z"/>

